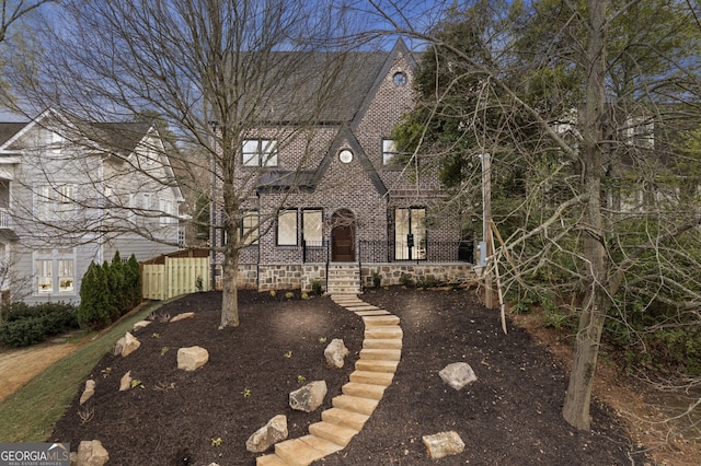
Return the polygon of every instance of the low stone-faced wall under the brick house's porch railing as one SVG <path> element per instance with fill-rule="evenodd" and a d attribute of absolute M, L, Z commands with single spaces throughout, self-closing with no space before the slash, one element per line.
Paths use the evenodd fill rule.
<path fill-rule="evenodd" d="M 383 287 L 402 284 L 411 279 L 414 283 L 433 277 L 438 282 L 464 280 L 473 275 L 472 264 L 371 264 L 363 266 L 363 287 L 372 288 L 372 273 L 381 276 Z M 402 279 L 402 276 L 406 277 Z M 319 280 L 326 286 L 324 264 L 303 265 L 245 265 L 239 267 L 239 288 L 268 290 L 310 291 L 311 283 Z"/>

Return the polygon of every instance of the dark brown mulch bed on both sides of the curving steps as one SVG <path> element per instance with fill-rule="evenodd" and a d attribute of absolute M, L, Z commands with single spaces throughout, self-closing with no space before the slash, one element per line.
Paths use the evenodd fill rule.
<path fill-rule="evenodd" d="M 271 418 L 288 418 L 289 438 L 308 433 L 348 382 L 361 348 L 363 322 L 327 296 L 301 300 L 240 292 L 241 325 L 219 330 L 221 294 L 197 293 L 161 307 L 177 323 L 156 319 L 135 333 L 141 347 L 127 358 L 105 356 L 92 373 L 95 395 L 78 399 L 57 423 L 51 441 L 100 440 L 110 465 L 254 465 L 246 439 Z M 529 335 L 480 305 L 469 290 L 369 290 L 361 299 L 400 316 L 402 360 L 378 409 L 343 451 L 324 465 L 630 465 L 645 463 L 606 407 L 593 406 L 593 429 L 579 432 L 561 415 L 563 366 Z M 323 350 L 342 338 L 350 354 L 344 369 L 326 368 Z M 325 341 L 324 341 L 325 339 Z M 209 362 L 176 369 L 177 349 L 202 346 Z M 438 371 L 468 362 L 478 381 L 462 391 Z M 131 371 L 140 384 L 118 392 Z M 303 378 L 303 380 L 302 380 Z M 324 380 L 324 405 L 306 413 L 288 406 L 291 391 Z M 82 391 L 82 387 L 80 387 Z M 80 396 L 80 393 L 78 394 Z M 89 412 L 92 417 L 88 419 Z M 81 415 L 83 419 L 81 419 Z M 422 435 L 457 431 L 466 451 L 427 457 Z M 271 448 L 271 452 L 273 448 Z"/>

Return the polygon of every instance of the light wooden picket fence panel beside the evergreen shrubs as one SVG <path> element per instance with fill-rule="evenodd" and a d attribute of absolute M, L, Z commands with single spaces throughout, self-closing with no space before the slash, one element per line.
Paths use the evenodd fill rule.
<path fill-rule="evenodd" d="M 208 257 L 165 257 L 165 264 L 141 267 L 145 300 L 168 300 L 181 294 L 211 289 Z"/>

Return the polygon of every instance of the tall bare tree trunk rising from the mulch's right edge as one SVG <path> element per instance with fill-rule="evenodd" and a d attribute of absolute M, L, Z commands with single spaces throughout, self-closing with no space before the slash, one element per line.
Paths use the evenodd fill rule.
<path fill-rule="evenodd" d="M 610 302 L 607 290 L 607 261 L 601 212 L 604 176 L 602 120 L 606 77 L 606 0 L 588 0 L 589 42 L 586 51 L 586 102 L 582 115 L 582 184 L 588 195 L 583 222 L 583 252 L 589 268 L 588 292 L 584 302 L 570 384 L 562 410 L 565 420 L 581 430 L 590 428 L 589 405 L 604 322 Z"/>

